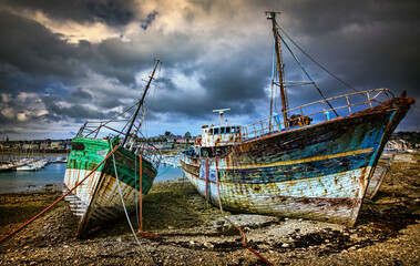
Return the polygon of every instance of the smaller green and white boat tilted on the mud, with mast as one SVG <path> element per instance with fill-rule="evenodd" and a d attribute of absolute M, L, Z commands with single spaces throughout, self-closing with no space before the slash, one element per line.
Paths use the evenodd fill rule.
<path fill-rule="evenodd" d="M 124 122 L 126 133 L 110 126 L 117 122 L 116 117 L 122 115 L 119 114 L 106 122 L 86 122 L 72 140 L 64 175 L 64 193 L 91 173 L 120 144 L 84 183 L 65 197 L 79 218 L 78 237 L 119 218 L 124 214 L 124 207 L 127 212 L 133 211 L 139 205 L 139 194 L 146 195 L 151 190 L 157 174 L 160 153 L 156 149 L 150 149 L 153 146 L 139 142 L 136 134 L 143 120 L 139 122 L 136 119 L 158 63 L 157 60 L 141 100 L 132 106 L 136 108 L 133 115 L 129 122 Z M 92 123 L 95 126 L 92 127 Z M 105 137 L 98 137 L 100 131 L 110 133 Z"/>

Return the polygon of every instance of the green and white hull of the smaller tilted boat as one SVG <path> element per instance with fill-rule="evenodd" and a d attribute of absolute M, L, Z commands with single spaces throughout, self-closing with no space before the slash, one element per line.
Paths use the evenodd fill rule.
<path fill-rule="evenodd" d="M 64 193 L 83 180 L 110 151 L 106 140 L 75 137 L 72 141 L 72 151 L 66 164 Z M 115 158 L 117 178 L 113 158 Z M 148 193 L 156 174 L 157 171 L 143 158 L 143 195 Z M 114 156 L 110 156 L 86 181 L 65 197 L 73 214 L 79 218 L 78 237 L 119 218 L 124 213 L 120 190 L 129 212 L 139 205 L 139 175 L 140 158 L 119 147 Z"/>

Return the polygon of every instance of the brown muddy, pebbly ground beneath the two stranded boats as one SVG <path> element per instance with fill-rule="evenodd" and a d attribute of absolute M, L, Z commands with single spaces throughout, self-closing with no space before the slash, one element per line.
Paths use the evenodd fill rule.
<path fill-rule="evenodd" d="M 420 265 L 420 156 L 398 154 L 377 196 L 365 200 L 355 227 L 231 214 L 248 246 L 274 265 Z M 0 195 L 0 237 L 60 197 L 57 187 Z M 0 265 L 265 265 L 221 211 L 183 180 L 157 183 L 144 201 L 144 231 L 126 219 L 74 238 L 75 219 L 61 202 L 0 243 Z M 136 214 L 131 222 L 139 228 Z"/>

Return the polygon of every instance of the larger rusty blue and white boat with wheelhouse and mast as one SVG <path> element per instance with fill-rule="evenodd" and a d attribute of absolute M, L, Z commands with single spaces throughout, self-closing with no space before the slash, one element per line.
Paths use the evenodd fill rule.
<path fill-rule="evenodd" d="M 184 173 L 205 198 L 232 212 L 352 226 L 385 144 L 414 101 L 376 89 L 321 94 L 320 101 L 289 109 L 286 85 L 297 83 L 285 81 L 280 40 L 289 47 L 276 12 L 267 14 L 278 74 L 272 90 L 278 86 L 283 111 L 272 111 L 272 99 L 267 119 L 240 126 L 224 123 L 228 110 L 215 110 L 221 124 L 202 126 L 194 149 L 182 152 Z"/>

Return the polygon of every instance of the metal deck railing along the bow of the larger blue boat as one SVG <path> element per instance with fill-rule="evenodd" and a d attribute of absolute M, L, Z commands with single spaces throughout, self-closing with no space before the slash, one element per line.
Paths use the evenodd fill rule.
<path fill-rule="evenodd" d="M 284 112 L 274 113 L 267 119 L 240 127 L 242 141 L 334 120 L 337 119 L 336 114 L 341 117 L 348 116 L 392 98 L 393 95 L 388 89 L 375 89 L 308 103 L 286 111 L 287 121 L 284 120 Z M 327 101 L 332 109 L 329 108 Z"/>

